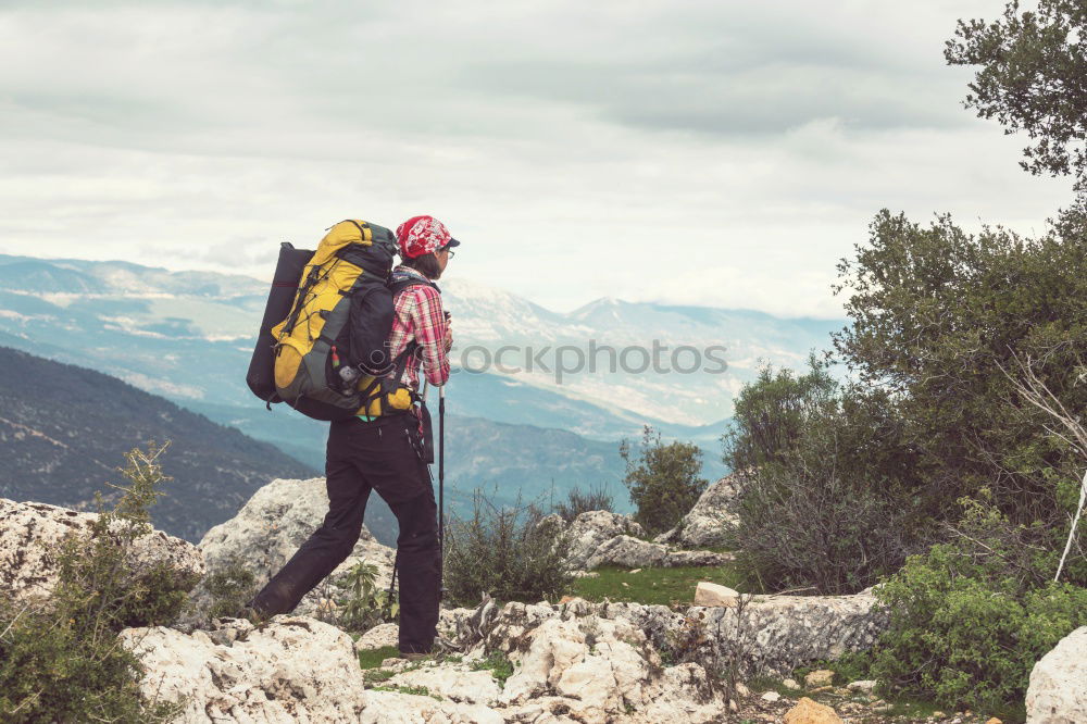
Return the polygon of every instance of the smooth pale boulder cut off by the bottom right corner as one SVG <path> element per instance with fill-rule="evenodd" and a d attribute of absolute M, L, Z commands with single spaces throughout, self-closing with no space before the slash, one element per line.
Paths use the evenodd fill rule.
<path fill-rule="evenodd" d="M 1061 639 L 1030 672 L 1027 724 L 1087 722 L 1087 626 Z"/>

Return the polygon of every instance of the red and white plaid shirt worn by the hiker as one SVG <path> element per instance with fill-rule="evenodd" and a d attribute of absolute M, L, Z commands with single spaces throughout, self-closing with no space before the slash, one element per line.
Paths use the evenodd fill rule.
<path fill-rule="evenodd" d="M 410 266 L 399 265 L 392 274 L 418 277 L 421 282 L 427 278 Z M 432 385 L 445 385 L 449 379 L 449 355 L 442 340 L 446 337 L 446 314 L 441 310 L 441 295 L 434 287 L 418 285 L 408 287 L 392 300 L 395 314 L 392 332 L 389 335 L 390 359 L 407 349 L 409 342 L 415 339 L 418 347 L 414 359 L 408 360 L 401 382 L 416 392 L 420 391 L 420 363 L 426 372 L 426 379 Z M 390 372 L 392 376 L 396 372 Z"/>

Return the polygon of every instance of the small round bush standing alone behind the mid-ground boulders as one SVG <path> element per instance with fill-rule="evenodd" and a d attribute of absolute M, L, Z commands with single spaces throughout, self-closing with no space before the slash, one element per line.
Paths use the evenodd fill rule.
<path fill-rule="evenodd" d="M 702 451 L 690 442 L 661 442 L 661 434 L 646 425 L 637 458 L 632 458 L 630 444 L 620 444 L 620 454 L 626 462 L 624 485 L 630 501 L 637 505 L 634 515 L 648 533 L 669 530 L 686 515 L 705 489 L 707 480 L 699 477 Z"/>

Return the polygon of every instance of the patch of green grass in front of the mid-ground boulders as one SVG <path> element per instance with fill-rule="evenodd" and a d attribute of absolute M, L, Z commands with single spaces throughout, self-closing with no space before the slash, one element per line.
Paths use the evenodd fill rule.
<path fill-rule="evenodd" d="M 691 606 L 700 581 L 721 584 L 742 592 L 755 592 L 732 564 L 723 566 L 684 566 L 677 569 L 629 569 L 604 566 L 595 578 L 574 582 L 574 595 L 589 601 L 634 601 L 661 606 Z M 625 586 L 623 584 L 626 584 Z"/>

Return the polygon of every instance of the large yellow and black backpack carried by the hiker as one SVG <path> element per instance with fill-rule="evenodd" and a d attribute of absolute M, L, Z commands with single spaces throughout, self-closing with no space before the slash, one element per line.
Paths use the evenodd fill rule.
<path fill-rule="evenodd" d="M 400 377 L 415 346 L 388 360 L 387 340 L 393 292 L 422 283 L 388 286 L 396 253 L 389 229 L 353 220 L 333 226 L 315 252 L 280 247 L 247 375 L 270 410 L 287 402 L 309 417 L 334 421 L 411 409 L 413 392 Z M 349 325 L 352 300 L 362 319 Z M 341 367 L 360 374 L 345 382 Z M 392 370 L 392 378 L 385 376 Z"/>

